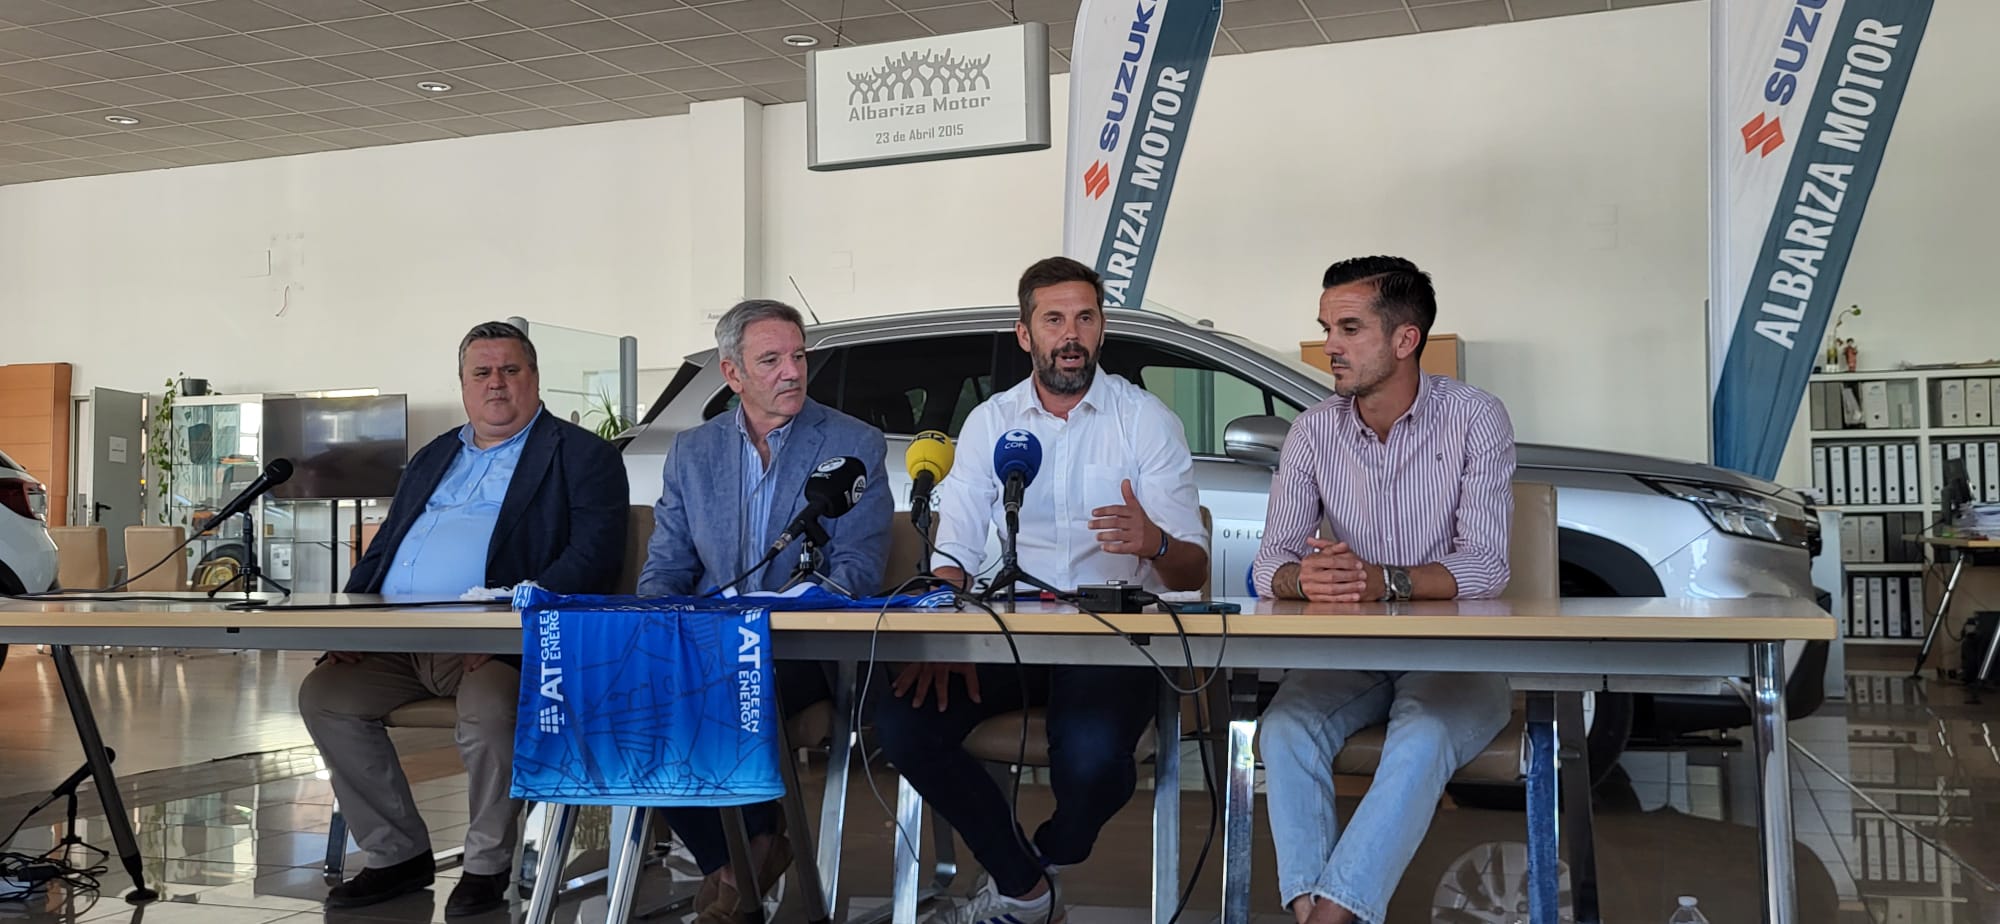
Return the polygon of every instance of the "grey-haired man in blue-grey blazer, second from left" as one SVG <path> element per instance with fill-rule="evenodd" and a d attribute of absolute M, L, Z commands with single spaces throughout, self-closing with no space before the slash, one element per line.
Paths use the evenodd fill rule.
<path fill-rule="evenodd" d="M 806 326 L 782 302 L 752 300 L 716 322 L 722 378 L 736 410 L 682 432 L 666 456 L 652 542 L 640 594 L 704 594 L 736 580 L 764 558 L 786 524 L 806 506 L 806 478 L 828 458 L 854 456 L 868 468 L 862 498 L 846 516 L 826 520 L 822 550 L 828 590 L 882 590 L 894 502 L 882 472 L 882 430 L 806 398 Z M 738 592 L 778 590 L 796 552 L 742 580 Z M 788 712 L 828 696 L 826 672 L 810 662 L 778 662 L 778 698 Z M 758 882 L 772 884 L 792 860 L 774 802 L 748 806 L 750 852 Z M 702 866 L 698 924 L 736 920 L 736 884 L 728 868 L 722 818 L 712 808 L 672 808 L 668 822 Z"/>

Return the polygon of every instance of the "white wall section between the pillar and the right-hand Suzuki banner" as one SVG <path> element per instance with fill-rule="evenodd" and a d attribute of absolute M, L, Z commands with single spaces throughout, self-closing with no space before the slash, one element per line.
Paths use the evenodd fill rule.
<path fill-rule="evenodd" d="M 1214 60 L 1148 298 L 1296 350 L 1328 262 L 1404 254 L 1524 440 L 1702 456 L 1704 16 Z M 766 228 L 768 286 L 822 318 L 1010 304 L 1060 250 L 1062 110 L 1048 152 L 836 174 L 768 110 L 766 194 L 808 206 Z"/>

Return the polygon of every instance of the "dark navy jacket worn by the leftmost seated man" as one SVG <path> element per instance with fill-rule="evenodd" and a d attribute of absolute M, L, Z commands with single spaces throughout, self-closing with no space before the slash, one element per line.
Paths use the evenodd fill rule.
<path fill-rule="evenodd" d="M 452 428 L 410 458 L 382 530 L 348 576 L 348 594 L 382 592 L 396 548 L 460 448 L 464 442 Z M 616 592 L 628 504 L 618 448 L 544 408 L 530 424 L 494 538 L 486 544 L 486 586 L 534 580 L 558 594 Z"/>

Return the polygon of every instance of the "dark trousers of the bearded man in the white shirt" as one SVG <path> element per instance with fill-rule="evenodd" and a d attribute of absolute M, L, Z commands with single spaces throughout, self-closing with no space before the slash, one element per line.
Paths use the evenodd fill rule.
<path fill-rule="evenodd" d="M 888 760 L 958 828 L 994 886 L 1020 896 L 1042 878 L 1042 862 L 1066 866 L 1088 858 L 1104 824 L 1132 800 L 1138 786 L 1132 750 L 1158 710 L 1160 678 L 1150 668 L 980 664 L 978 672 L 982 702 L 972 702 L 954 680 L 944 712 L 936 696 L 912 708 L 910 696 L 896 700 L 882 686 L 872 704 L 874 730 Z M 1040 856 L 1022 848 L 1006 790 L 964 750 L 974 726 L 1026 706 L 1048 708 L 1056 812 L 1034 832 Z"/>

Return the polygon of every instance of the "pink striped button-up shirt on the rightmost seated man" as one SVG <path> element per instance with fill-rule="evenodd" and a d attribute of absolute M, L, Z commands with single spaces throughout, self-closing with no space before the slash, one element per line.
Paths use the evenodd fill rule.
<path fill-rule="evenodd" d="M 1462 600 L 1500 596 L 1514 520 L 1514 424 L 1500 398 L 1424 376 L 1416 402 L 1376 438 L 1354 398 L 1314 404 L 1284 440 L 1270 482 L 1256 592 L 1274 596 L 1278 568 L 1306 556 L 1322 518 L 1368 564 L 1438 562 Z"/>

